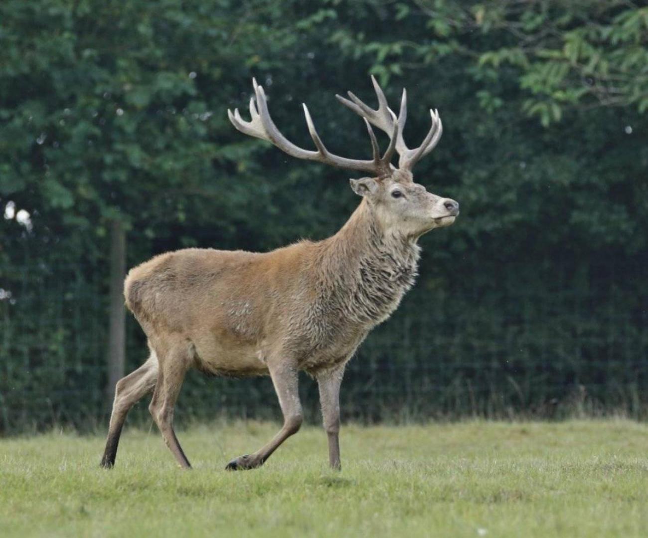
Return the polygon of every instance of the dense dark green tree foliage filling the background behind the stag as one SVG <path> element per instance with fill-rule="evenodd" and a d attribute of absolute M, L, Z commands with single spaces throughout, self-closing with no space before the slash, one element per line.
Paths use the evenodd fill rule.
<path fill-rule="evenodd" d="M 442 385 L 478 375 L 467 361 L 511 360 L 511 379 L 531 387 L 551 357 L 570 382 L 587 360 L 645 357 L 645 7 L 5 0 L 0 19 L 0 207 L 16 209 L 0 220 L 5 401 L 45 380 L 102 383 L 108 220 L 129 230 L 130 265 L 185 246 L 267 250 L 341 226 L 357 203 L 345 172 L 227 121 L 227 108 L 246 109 L 252 76 L 290 139 L 311 143 L 306 101 L 327 146 L 350 157 L 368 158 L 369 143 L 333 96 L 371 102 L 369 73 L 393 104 L 407 86 L 408 140 L 428 128 L 424 107 L 441 112 L 443 140 L 415 177 L 459 200 L 461 218 L 422 240 L 421 293 L 391 322 L 413 339 L 407 350 L 383 329 L 364 348 L 372 364 L 414 365 L 443 344 L 456 368 L 425 374 Z M 562 295 L 572 291 L 573 304 Z M 554 292 L 563 302 L 546 302 Z M 608 319 L 610 305 L 621 310 Z M 630 329 L 633 345 L 615 355 L 610 342 Z"/>

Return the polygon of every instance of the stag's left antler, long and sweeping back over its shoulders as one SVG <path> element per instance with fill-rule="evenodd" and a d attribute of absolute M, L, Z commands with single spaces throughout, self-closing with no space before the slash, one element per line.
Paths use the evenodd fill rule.
<path fill-rule="evenodd" d="M 318 135 L 318 132 L 315 129 L 310 113 L 308 112 L 307 106 L 304 104 L 304 115 L 306 117 L 306 123 L 308 125 L 308 132 L 310 137 L 313 139 L 317 151 L 310 151 L 300 148 L 299 146 L 294 145 L 290 140 L 284 137 L 283 134 L 277 129 L 272 118 L 270 117 L 270 112 L 268 111 L 268 101 L 266 100 L 266 93 L 264 92 L 262 86 L 257 84 L 257 81 L 253 78 L 252 83 L 254 86 L 255 97 L 251 97 L 249 100 L 249 113 L 251 116 L 250 121 L 244 121 L 238 112 L 238 108 L 232 113 L 231 110 L 227 109 L 227 115 L 229 121 L 242 133 L 257 137 L 268 142 L 272 142 L 280 150 L 283 150 L 288 155 L 296 157 L 297 159 L 307 159 L 309 161 L 319 161 L 320 163 L 325 163 L 333 165 L 340 168 L 347 168 L 353 170 L 362 170 L 364 172 L 369 172 L 382 176 L 385 174 L 390 174 L 393 170 L 391 165 L 391 158 L 393 157 L 394 151 L 396 149 L 397 140 L 400 137 L 399 134 L 399 123 L 394 121 L 396 117 L 394 116 L 391 120 L 391 127 L 387 131 L 390 136 L 389 147 L 382 157 L 380 157 L 380 150 L 378 148 L 378 142 L 376 141 L 376 135 L 371 128 L 371 124 L 367 121 L 367 118 L 364 117 L 365 124 L 367 125 L 367 131 L 369 132 L 369 138 L 371 139 L 371 148 L 373 150 L 373 159 L 371 161 L 363 161 L 360 159 L 347 159 L 345 157 L 340 157 L 338 155 L 332 154 L 327 150 L 324 143 L 321 141 L 321 138 Z M 390 111 L 391 112 L 391 111 Z M 393 115 L 393 112 L 391 112 Z M 383 128 L 382 126 L 380 128 Z M 384 128 L 383 128 L 384 130 Z M 402 139 L 402 137 L 400 137 Z"/>

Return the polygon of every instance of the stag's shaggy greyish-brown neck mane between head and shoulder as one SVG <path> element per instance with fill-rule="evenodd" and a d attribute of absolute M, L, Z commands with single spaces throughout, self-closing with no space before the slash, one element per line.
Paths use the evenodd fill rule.
<path fill-rule="evenodd" d="M 413 240 L 380 228 L 362 200 L 340 231 L 319 243 L 319 295 L 349 321 L 380 323 L 413 285 L 419 251 Z"/>

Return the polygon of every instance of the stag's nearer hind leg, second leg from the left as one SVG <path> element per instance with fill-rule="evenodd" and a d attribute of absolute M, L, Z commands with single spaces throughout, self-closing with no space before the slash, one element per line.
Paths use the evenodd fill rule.
<path fill-rule="evenodd" d="M 173 410 L 191 364 L 189 345 L 178 345 L 168 353 L 159 355 L 159 374 L 148 410 L 159 428 L 162 438 L 171 450 L 180 467 L 191 469 L 191 463 L 183 452 L 173 429 Z"/>

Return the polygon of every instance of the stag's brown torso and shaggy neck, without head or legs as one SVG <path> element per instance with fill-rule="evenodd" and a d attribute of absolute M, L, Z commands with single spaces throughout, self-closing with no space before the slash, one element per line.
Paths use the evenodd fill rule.
<path fill-rule="evenodd" d="M 126 305 L 152 340 L 181 334 L 213 375 L 263 375 L 288 349 L 312 375 L 346 362 L 413 284 L 419 247 L 360 204 L 334 236 L 268 253 L 179 250 L 131 270 Z M 249 283 L 253 282 L 251 287 Z"/>

